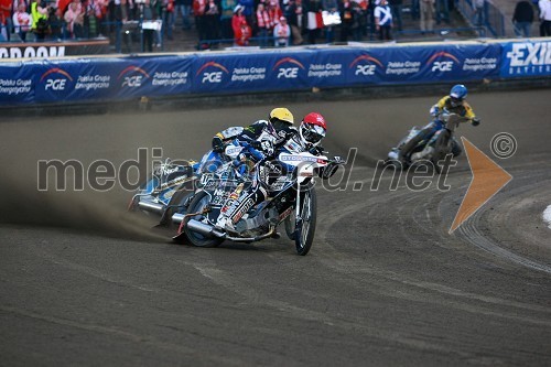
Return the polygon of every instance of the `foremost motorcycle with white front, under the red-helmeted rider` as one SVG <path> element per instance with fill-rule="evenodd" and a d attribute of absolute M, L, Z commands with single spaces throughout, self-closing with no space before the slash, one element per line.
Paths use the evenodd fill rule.
<path fill-rule="evenodd" d="M 342 165 L 345 162 L 338 156 L 329 160 L 309 152 L 282 151 L 278 160 L 292 169 L 287 172 L 276 169 L 278 174 L 270 176 L 274 171 L 273 166 L 268 168 L 271 163 L 266 159 L 256 163 L 251 160 L 236 163 L 236 158 L 247 149 L 251 147 L 227 147 L 226 155 L 233 160 L 201 176 L 198 188 L 186 205 L 186 214 L 174 216 L 181 225 L 173 239 L 179 242 L 187 240 L 198 247 L 217 247 L 224 240 L 256 242 L 280 238 L 277 228 L 284 224 L 287 236 L 295 242 L 296 252 L 306 255 L 316 226 L 315 175 L 328 164 Z M 247 192 L 248 185 L 259 185 L 260 182 L 267 183 L 268 198 L 252 205 L 246 213 L 239 213 L 234 229 L 217 227 L 222 213 Z"/>

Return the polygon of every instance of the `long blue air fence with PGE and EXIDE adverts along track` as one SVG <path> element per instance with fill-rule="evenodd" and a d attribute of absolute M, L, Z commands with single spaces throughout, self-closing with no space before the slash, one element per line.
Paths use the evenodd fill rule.
<path fill-rule="evenodd" d="M 550 77 L 548 39 L 6 60 L 0 107 Z"/>

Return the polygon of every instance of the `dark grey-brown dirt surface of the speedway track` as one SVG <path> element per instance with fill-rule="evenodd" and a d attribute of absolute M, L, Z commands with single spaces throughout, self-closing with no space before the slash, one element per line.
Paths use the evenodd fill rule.
<path fill-rule="evenodd" d="M 216 131 L 274 106 L 0 122 L 1 365 L 551 365 L 551 89 L 469 96 L 483 123 L 458 134 L 514 180 L 452 235 L 465 156 L 446 192 L 403 177 L 392 191 L 390 174 L 371 190 L 377 161 L 439 97 L 288 105 L 326 117 L 333 154 L 357 148 L 348 184 L 318 187 L 306 257 L 283 237 L 174 245 L 154 217 L 128 215 L 119 185 L 55 192 L 50 177 L 37 191 L 39 160 L 198 159 Z M 518 142 L 507 160 L 489 149 L 501 131 Z"/>

